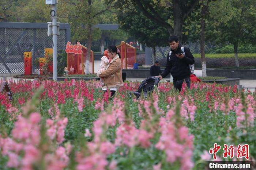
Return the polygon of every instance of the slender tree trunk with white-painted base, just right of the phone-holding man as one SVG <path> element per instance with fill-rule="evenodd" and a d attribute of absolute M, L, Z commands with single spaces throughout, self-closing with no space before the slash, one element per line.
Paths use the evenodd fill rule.
<path fill-rule="evenodd" d="M 201 36 L 200 36 L 200 50 L 201 50 L 201 63 L 202 63 L 202 73 L 203 73 L 203 77 L 206 77 L 206 59 L 205 59 L 205 50 L 204 50 L 204 28 L 205 28 L 205 20 L 204 20 L 204 16 L 205 16 L 205 11 L 206 11 L 206 6 L 203 5 L 202 9 L 201 9 Z"/>

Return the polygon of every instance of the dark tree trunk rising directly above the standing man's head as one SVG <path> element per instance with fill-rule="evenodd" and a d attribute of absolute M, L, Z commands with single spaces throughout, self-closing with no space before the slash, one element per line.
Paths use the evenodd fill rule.
<path fill-rule="evenodd" d="M 179 39 L 180 44 L 182 43 L 182 13 L 180 8 L 180 2 L 178 0 L 173 0 L 173 18 L 174 18 L 174 32 Z"/>

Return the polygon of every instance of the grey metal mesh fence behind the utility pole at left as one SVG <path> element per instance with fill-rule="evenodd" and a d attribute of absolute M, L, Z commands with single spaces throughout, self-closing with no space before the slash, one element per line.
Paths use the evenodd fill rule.
<path fill-rule="evenodd" d="M 44 57 L 44 49 L 52 48 L 47 27 L 47 23 L 0 22 L 0 73 L 24 73 L 24 52 L 32 52 L 32 61 Z M 57 49 L 64 50 L 70 39 L 69 24 L 60 24 Z M 37 70 L 32 62 L 32 72 Z"/>

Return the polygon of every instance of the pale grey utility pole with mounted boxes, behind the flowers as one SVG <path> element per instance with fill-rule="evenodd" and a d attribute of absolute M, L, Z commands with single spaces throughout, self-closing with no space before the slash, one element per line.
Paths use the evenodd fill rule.
<path fill-rule="evenodd" d="M 48 36 L 52 35 L 53 48 L 53 80 L 57 81 L 57 35 L 60 35 L 60 23 L 57 23 L 57 3 L 58 0 L 45 0 L 46 4 L 52 5 L 50 15 L 52 23 L 48 22 Z"/>

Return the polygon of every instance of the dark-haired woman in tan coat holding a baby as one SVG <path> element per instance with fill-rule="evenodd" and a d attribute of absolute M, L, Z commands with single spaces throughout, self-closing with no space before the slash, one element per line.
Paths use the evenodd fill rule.
<path fill-rule="evenodd" d="M 102 90 L 106 92 L 108 88 L 111 92 L 111 98 L 113 98 L 118 88 L 123 86 L 122 65 L 116 46 L 108 47 L 108 57 L 112 59 L 111 62 L 107 65 L 106 70 L 98 71 L 97 76 L 104 78 Z"/>

